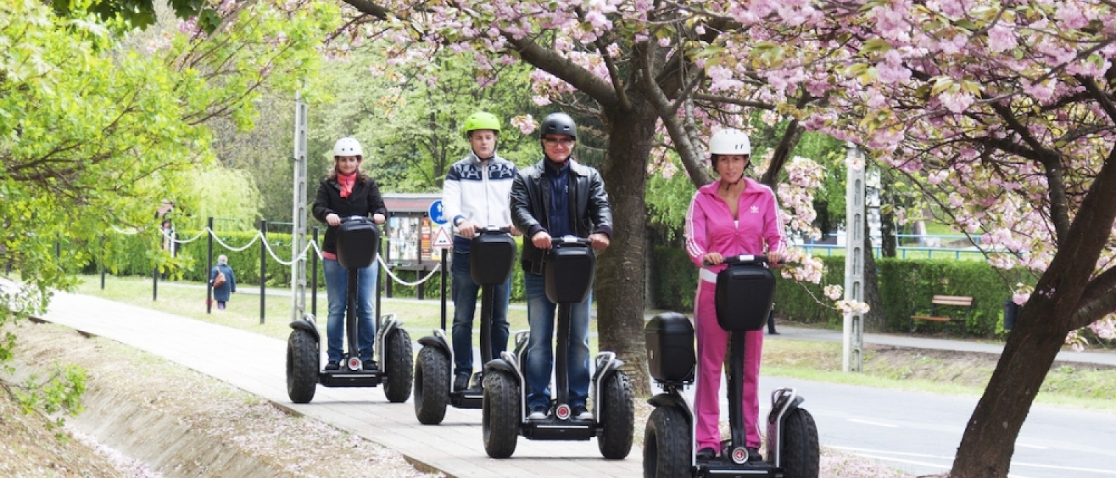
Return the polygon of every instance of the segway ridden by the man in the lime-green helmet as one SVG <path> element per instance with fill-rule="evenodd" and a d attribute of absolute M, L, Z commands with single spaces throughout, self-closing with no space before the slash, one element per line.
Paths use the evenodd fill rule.
<path fill-rule="evenodd" d="M 492 360 L 492 315 L 496 311 L 496 286 L 508 282 L 516 264 L 516 241 L 507 227 L 477 228 L 469 245 L 469 275 L 481 286 L 481 363 Z M 442 281 L 445 281 L 443 269 Z M 444 283 L 444 282 L 443 282 Z M 442 302 L 445 303 L 445 294 Z M 445 308 L 443 306 L 444 311 Z M 439 425 L 445 418 L 445 407 L 481 408 L 481 388 L 453 390 L 453 348 L 445 336 L 445 314 L 442 328 L 433 335 L 419 339 L 423 348 L 415 362 L 415 416 L 423 425 Z M 483 365 L 482 365 L 483 368 Z M 477 372 L 472 383 L 483 384 L 483 372 Z"/>

